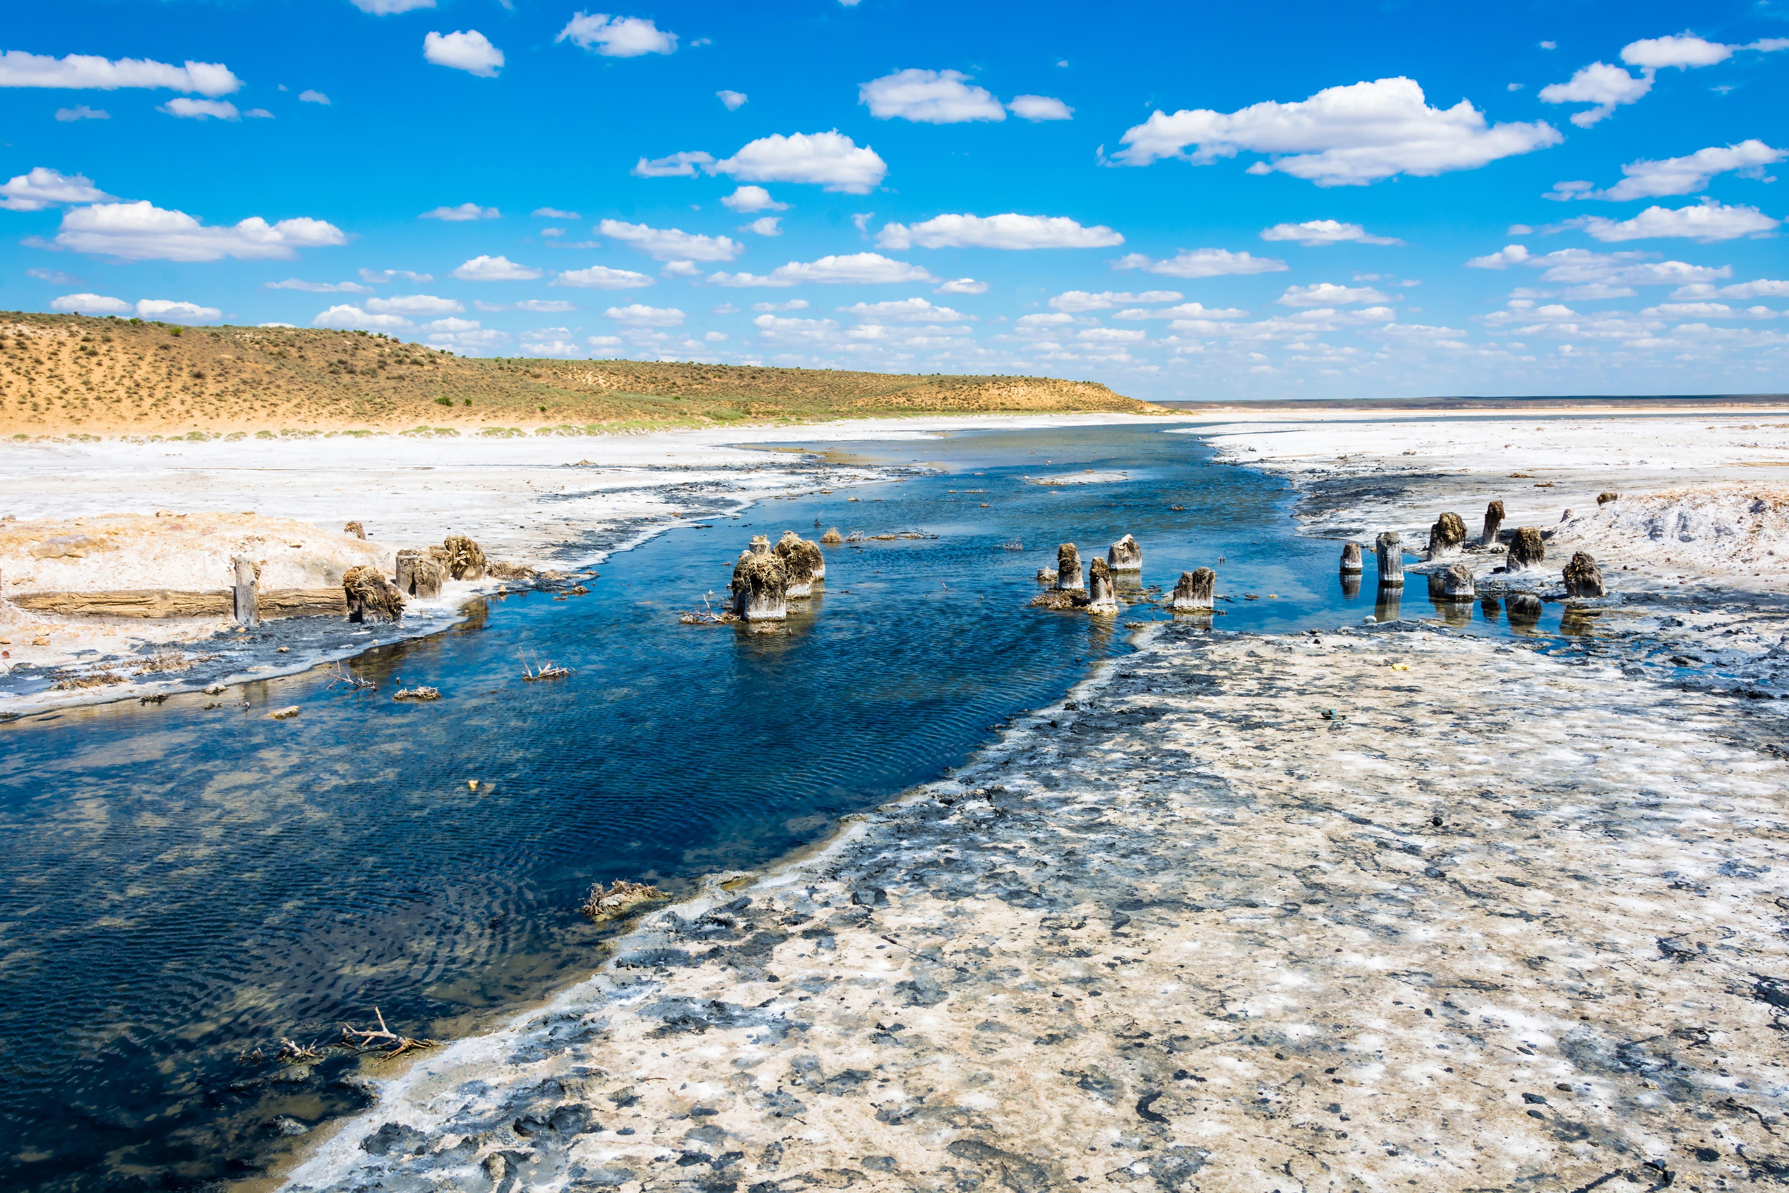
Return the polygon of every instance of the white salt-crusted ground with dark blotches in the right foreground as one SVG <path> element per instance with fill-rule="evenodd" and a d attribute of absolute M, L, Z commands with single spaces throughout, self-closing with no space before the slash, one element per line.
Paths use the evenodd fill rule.
<path fill-rule="evenodd" d="M 299 1184 L 1785 1182 L 1780 724 L 1492 640 L 1170 626 Z"/>

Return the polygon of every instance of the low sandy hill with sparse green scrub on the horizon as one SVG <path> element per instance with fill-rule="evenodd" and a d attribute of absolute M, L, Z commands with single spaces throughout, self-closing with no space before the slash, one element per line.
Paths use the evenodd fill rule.
<path fill-rule="evenodd" d="M 1091 381 L 483 360 L 358 331 L 0 315 L 0 435 L 626 429 L 937 411 L 1159 411 Z"/>

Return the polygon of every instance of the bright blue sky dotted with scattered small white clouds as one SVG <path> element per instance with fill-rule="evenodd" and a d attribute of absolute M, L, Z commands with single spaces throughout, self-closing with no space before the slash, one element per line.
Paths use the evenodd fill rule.
<path fill-rule="evenodd" d="M 1789 4 L 61 0 L 0 308 L 1138 397 L 1789 390 Z"/>

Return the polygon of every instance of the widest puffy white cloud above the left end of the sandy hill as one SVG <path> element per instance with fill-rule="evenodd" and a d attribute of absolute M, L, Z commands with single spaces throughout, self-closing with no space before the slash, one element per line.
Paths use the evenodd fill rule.
<path fill-rule="evenodd" d="M 123 261 L 265 261 L 295 258 L 297 249 L 345 245 L 347 236 L 333 224 L 309 218 L 268 224 L 249 216 L 234 227 L 208 227 L 184 211 L 140 200 L 73 207 L 63 215 L 52 243 Z"/>

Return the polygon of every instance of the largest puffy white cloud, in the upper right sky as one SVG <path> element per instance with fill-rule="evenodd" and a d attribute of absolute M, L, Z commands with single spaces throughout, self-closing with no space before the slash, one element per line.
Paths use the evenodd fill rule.
<path fill-rule="evenodd" d="M 1413 79 L 1379 79 L 1234 113 L 1157 111 L 1123 134 L 1116 161 L 1147 166 L 1181 157 L 1202 166 L 1249 150 L 1270 157 L 1249 166 L 1251 173 L 1279 170 L 1318 186 L 1358 186 L 1395 173 L 1476 170 L 1560 140 L 1547 123 L 1487 125 L 1467 100 L 1429 107 Z"/>

